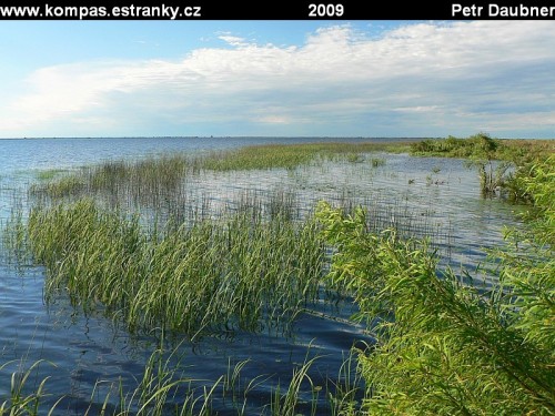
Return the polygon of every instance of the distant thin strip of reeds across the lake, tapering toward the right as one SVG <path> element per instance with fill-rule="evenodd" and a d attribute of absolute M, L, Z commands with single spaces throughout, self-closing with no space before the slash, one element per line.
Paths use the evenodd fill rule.
<path fill-rule="evenodd" d="M 325 160 L 361 159 L 365 153 L 407 151 L 406 143 L 310 143 L 254 145 L 201 155 L 163 155 L 141 161 L 107 161 L 78 172 L 53 175 L 30 189 L 38 197 L 59 199 L 98 193 L 118 194 L 125 190 L 133 200 L 158 201 L 171 199 L 183 181 L 201 171 L 249 171 L 295 169 Z M 371 158 L 373 166 L 383 160 Z M 50 177 L 50 176 L 46 176 Z"/>

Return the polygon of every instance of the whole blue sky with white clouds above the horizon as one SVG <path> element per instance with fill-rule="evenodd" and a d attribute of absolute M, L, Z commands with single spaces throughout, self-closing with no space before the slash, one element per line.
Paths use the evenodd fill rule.
<path fill-rule="evenodd" d="M 555 138 L 555 21 L 2 21 L 0 138 Z"/>

